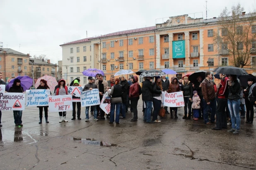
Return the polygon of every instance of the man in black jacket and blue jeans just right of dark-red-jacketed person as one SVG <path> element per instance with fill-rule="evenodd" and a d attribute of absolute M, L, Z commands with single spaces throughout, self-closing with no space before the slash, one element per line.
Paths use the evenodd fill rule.
<path fill-rule="evenodd" d="M 145 81 L 142 82 L 142 100 L 146 104 L 143 121 L 145 121 L 146 123 L 154 123 L 151 121 L 151 110 L 153 100 L 152 80 L 152 77 L 146 77 Z"/>

